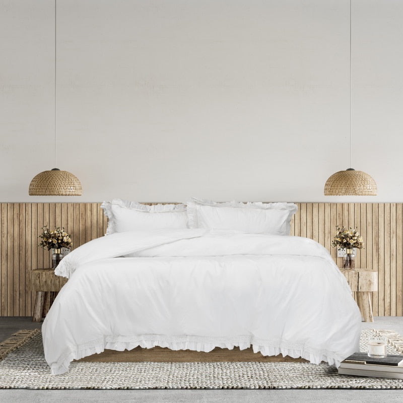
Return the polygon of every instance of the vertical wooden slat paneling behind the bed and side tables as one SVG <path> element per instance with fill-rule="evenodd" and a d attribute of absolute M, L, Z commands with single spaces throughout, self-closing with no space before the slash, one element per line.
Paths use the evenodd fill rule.
<path fill-rule="evenodd" d="M 155 203 L 147 203 L 155 204 Z M 103 236 L 107 220 L 100 203 L 2 203 L 0 226 L 0 315 L 30 316 L 33 293 L 29 271 L 50 267 L 50 252 L 38 248 L 41 227 L 64 227 L 74 247 Z M 297 203 L 291 235 L 312 238 L 326 247 L 339 267 L 342 258 L 330 247 L 336 225 L 358 227 L 365 248 L 357 267 L 379 270 L 374 315 L 401 316 L 403 311 L 402 203 Z"/>

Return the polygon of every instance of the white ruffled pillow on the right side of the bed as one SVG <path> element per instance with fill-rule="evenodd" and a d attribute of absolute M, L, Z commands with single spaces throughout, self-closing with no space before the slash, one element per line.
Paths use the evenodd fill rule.
<path fill-rule="evenodd" d="M 216 203 L 192 197 L 187 202 L 189 228 L 231 229 L 252 234 L 290 235 L 293 203 Z"/>

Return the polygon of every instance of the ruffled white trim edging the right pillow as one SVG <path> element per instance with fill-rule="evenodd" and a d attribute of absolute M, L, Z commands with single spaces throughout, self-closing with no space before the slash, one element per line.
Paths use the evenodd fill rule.
<path fill-rule="evenodd" d="M 212 207 L 235 207 L 243 209 L 258 209 L 258 210 L 289 210 L 287 219 L 287 233 L 290 232 L 290 220 L 293 214 L 298 210 L 298 206 L 294 203 L 262 203 L 261 201 L 248 201 L 242 203 L 242 201 L 226 201 L 224 203 L 217 203 L 216 201 L 200 199 L 197 197 L 191 197 L 187 201 L 187 220 L 189 228 L 198 228 L 197 219 L 197 206 L 212 206 Z M 102 207 L 102 206 L 101 206 Z"/>

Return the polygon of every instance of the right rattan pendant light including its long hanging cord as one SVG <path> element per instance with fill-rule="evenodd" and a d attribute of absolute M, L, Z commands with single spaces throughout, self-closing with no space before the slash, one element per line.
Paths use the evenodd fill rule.
<path fill-rule="evenodd" d="M 351 167 L 351 0 L 350 0 L 350 167 Z M 348 168 L 333 173 L 324 185 L 325 196 L 375 196 L 378 192 L 374 179 L 363 171 Z"/>

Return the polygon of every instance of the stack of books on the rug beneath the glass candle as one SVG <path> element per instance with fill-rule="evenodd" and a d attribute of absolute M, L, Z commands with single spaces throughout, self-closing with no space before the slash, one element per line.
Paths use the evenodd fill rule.
<path fill-rule="evenodd" d="M 367 353 L 354 353 L 341 362 L 339 374 L 403 379 L 403 356 L 372 358 Z"/>

